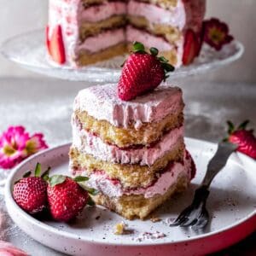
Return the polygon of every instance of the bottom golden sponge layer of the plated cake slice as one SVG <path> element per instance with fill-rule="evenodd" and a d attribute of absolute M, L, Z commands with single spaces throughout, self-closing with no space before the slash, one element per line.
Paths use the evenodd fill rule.
<path fill-rule="evenodd" d="M 108 195 L 99 193 L 93 196 L 97 205 L 107 207 L 113 212 L 117 212 L 125 218 L 147 218 L 150 212 L 163 204 L 174 193 L 183 192 L 189 185 L 189 177 L 180 175 L 177 183 L 167 189 L 164 195 L 154 195 L 152 198 L 144 198 L 143 195 L 123 195 L 119 198 L 110 198 Z"/>

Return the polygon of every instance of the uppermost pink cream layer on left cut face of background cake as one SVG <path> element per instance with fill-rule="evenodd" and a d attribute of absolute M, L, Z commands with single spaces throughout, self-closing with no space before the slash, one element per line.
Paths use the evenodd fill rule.
<path fill-rule="evenodd" d="M 125 15 L 126 4 L 122 2 L 102 3 L 100 5 L 91 6 L 82 11 L 79 19 L 89 22 L 97 22 L 106 20 L 113 15 Z"/>

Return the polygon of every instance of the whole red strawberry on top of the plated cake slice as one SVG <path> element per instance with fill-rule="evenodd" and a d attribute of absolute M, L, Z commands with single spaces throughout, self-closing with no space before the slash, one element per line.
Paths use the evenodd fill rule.
<path fill-rule="evenodd" d="M 118 96 L 123 101 L 132 99 L 154 90 L 162 80 L 167 78 L 166 73 L 174 70 L 166 58 L 157 57 L 158 49 L 150 48 L 150 54 L 145 51 L 144 45 L 138 42 L 133 44 L 133 53 L 125 61 L 118 84 Z"/>

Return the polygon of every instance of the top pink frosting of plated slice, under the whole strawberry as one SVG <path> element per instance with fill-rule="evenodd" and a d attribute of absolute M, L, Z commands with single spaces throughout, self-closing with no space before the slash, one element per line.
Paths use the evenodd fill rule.
<path fill-rule="evenodd" d="M 158 122 L 168 114 L 182 111 L 182 90 L 161 85 L 151 93 L 123 102 L 117 96 L 116 84 L 96 85 L 79 91 L 73 110 L 86 111 L 114 126 L 128 128 L 132 124 L 139 129 L 143 123 Z"/>

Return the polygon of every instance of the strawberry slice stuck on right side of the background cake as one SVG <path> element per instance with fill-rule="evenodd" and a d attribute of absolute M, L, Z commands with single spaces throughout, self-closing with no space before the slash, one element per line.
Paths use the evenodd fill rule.
<path fill-rule="evenodd" d="M 201 42 L 200 39 L 196 37 L 195 32 L 191 29 L 187 30 L 184 38 L 183 65 L 192 63 L 195 57 L 199 55 L 200 48 Z"/>

